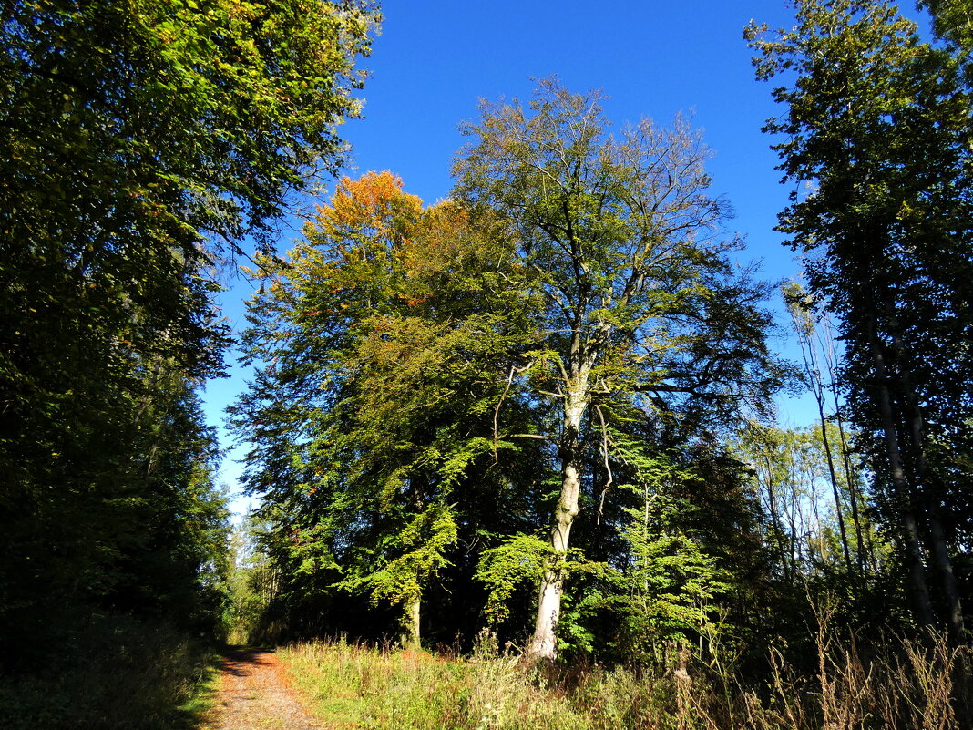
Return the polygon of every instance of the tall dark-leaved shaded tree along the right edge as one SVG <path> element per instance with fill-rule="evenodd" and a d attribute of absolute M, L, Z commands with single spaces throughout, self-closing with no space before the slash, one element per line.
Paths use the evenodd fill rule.
<path fill-rule="evenodd" d="M 758 78 L 791 84 L 774 91 L 787 112 L 766 128 L 784 136 L 780 169 L 813 185 L 792 194 L 780 230 L 806 254 L 811 292 L 840 318 L 851 413 L 879 459 L 917 619 L 933 624 L 943 604 L 958 637 L 944 514 L 961 477 L 939 455 L 968 443 L 973 413 L 969 99 L 955 57 L 922 43 L 895 6 L 796 7 L 790 31 L 747 29 Z"/>

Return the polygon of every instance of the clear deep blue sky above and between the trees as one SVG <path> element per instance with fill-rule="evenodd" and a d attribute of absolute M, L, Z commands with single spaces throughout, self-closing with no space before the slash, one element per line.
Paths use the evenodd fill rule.
<path fill-rule="evenodd" d="M 799 274 L 773 231 L 787 190 L 760 128 L 777 110 L 771 87 L 754 81 L 742 41 L 750 18 L 790 26 L 784 0 L 387 0 L 383 14 L 373 54 L 362 62 L 371 72 L 361 92 L 365 118 L 340 129 L 354 150 L 356 169 L 348 174 L 389 169 L 424 201 L 445 198 L 450 162 L 463 144 L 457 125 L 476 119 L 478 99 L 526 99 L 532 78 L 557 75 L 571 91 L 605 91 L 607 116 L 617 126 L 642 117 L 666 124 L 679 111 L 692 112 L 714 154 L 713 193 L 731 201 L 737 217 L 730 231 L 746 237 L 743 258 L 762 260 L 771 279 Z M 286 251 L 295 237 L 292 226 L 278 249 Z M 230 284 L 224 313 L 238 330 L 252 289 L 238 279 Z M 231 379 L 209 383 L 211 423 L 222 423 L 245 378 L 237 368 Z M 805 422 L 805 414 L 797 407 L 791 419 Z M 229 443 L 222 429 L 221 442 Z M 238 474 L 228 457 L 222 478 L 232 489 Z"/>

